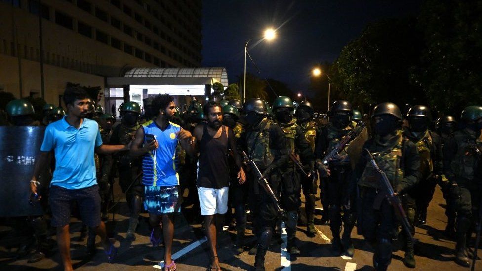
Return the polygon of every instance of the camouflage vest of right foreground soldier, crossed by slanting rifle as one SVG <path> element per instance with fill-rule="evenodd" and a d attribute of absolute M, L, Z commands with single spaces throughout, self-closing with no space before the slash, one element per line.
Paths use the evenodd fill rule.
<path fill-rule="evenodd" d="M 388 148 L 382 152 L 372 153 L 373 157 L 375 158 L 375 162 L 377 163 L 378 167 L 385 172 L 388 180 L 392 184 L 392 187 L 396 187 L 402 181 L 404 176 L 404 172 L 400 164 L 402 160 L 403 141 L 406 139 L 402 136 L 401 131 L 399 131 L 397 135 L 399 138 L 394 147 Z M 361 174 L 358 184 L 362 187 L 382 189 L 383 186 L 380 185 L 380 178 L 380 174 L 375 170 L 371 163 L 367 163 L 363 174 Z"/>

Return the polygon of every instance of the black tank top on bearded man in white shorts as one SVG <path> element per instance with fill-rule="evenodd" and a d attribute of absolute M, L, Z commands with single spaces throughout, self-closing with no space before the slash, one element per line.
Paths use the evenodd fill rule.
<path fill-rule="evenodd" d="M 221 136 L 214 138 L 207 131 L 207 125 L 204 125 L 199 146 L 197 186 L 229 186 L 228 134 L 225 126 L 222 126 Z"/>

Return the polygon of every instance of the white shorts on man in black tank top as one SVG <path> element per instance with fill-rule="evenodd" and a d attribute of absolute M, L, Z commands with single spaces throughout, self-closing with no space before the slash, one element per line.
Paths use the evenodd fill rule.
<path fill-rule="evenodd" d="M 228 188 L 198 187 L 201 215 L 225 214 L 228 211 Z"/>

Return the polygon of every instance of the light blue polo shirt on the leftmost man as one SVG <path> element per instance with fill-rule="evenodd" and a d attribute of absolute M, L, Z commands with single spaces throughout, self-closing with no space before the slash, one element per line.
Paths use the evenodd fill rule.
<path fill-rule="evenodd" d="M 97 184 L 94 150 L 102 145 L 99 125 L 83 119 L 79 129 L 64 118 L 50 123 L 43 137 L 40 151 L 55 153 L 55 171 L 50 185 L 66 189 L 80 189 Z"/>

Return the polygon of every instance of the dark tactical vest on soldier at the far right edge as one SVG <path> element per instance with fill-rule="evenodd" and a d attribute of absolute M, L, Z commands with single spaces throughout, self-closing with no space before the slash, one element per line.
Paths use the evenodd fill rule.
<path fill-rule="evenodd" d="M 477 167 L 479 153 L 482 151 L 482 135 L 476 139 L 467 129 L 454 133 L 457 142 L 457 153 L 450 164 L 457 180 L 474 179 L 474 168 Z"/>

